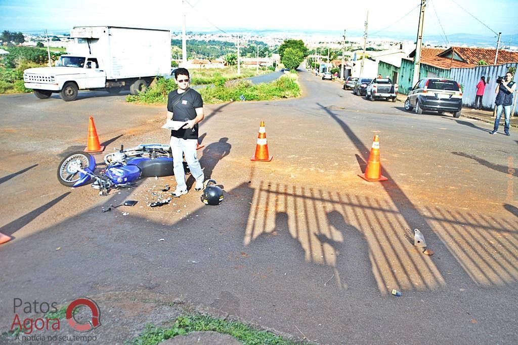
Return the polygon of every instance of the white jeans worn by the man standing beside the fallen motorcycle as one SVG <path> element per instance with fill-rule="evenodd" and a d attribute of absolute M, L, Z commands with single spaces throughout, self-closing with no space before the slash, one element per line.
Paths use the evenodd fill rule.
<path fill-rule="evenodd" d="M 171 136 L 172 170 L 175 172 L 177 190 L 187 189 L 187 185 L 185 184 L 185 171 L 183 170 L 184 155 L 185 161 L 189 165 L 191 174 L 195 178 L 196 182 L 198 184 L 203 183 L 205 176 L 203 175 L 202 166 L 199 164 L 198 158 L 196 157 L 197 143 L 197 139 L 180 139 L 175 136 Z"/>

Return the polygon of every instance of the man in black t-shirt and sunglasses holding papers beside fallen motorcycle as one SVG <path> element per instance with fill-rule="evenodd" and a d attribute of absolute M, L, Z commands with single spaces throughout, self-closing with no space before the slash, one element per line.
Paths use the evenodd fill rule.
<path fill-rule="evenodd" d="M 169 93 L 167 99 L 167 119 L 185 121 L 185 125 L 179 130 L 171 130 L 171 149 L 173 170 L 176 178 L 176 190 L 172 196 L 180 197 L 187 194 L 185 184 L 185 172 L 183 170 L 183 156 L 189 165 L 192 176 L 196 180 L 194 190 L 203 189 L 204 174 L 196 157 L 198 143 L 198 123 L 205 117 L 203 113 L 202 96 L 189 88 L 189 71 L 178 68 L 175 71 L 177 90 Z"/>

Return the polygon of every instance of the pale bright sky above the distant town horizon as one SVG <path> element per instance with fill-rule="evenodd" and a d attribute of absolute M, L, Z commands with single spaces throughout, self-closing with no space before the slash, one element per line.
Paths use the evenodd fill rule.
<path fill-rule="evenodd" d="M 239 28 L 250 33 L 265 29 L 343 32 L 346 29 L 351 35 L 358 35 L 363 32 L 369 10 L 371 37 L 415 36 L 420 4 L 420 0 L 330 0 L 311 2 L 309 8 L 300 5 L 305 2 L 299 0 L 187 1 L 188 31 Z M 181 0 L 0 0 L 0 30 L 69 31 L 73 26 L 82 25 L 180 30 L 181 13 Z M 516 0 L 429 0 L 425 36 L 470 33 L 491 37 L 495 35 L 493 31 L 516 34 L 517 14 Z"/>

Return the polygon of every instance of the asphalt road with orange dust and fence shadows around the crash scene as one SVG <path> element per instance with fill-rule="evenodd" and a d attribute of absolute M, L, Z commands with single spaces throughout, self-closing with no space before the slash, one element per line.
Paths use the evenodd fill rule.
<path fill-rule="evenodd" d="M 163 107 L 0 96 L 0 232 L 15 238 L 0 246 L 0 329 L 15 297 L 147 292 L 322 344 L 517 343 L 518 132 L 366 101 L 305 71 L 299 80 L 299 99 L 205 107 L 199 156 L 224 186 L 219 206 L 192 189 L 148 208 L 169 177 L 107 197 L 56 182 L 57 162 L 84 146 L 88 115 L 109 151 L 167 142 Z M 249 160 L 261 120 L 268 163 Z M 383 183 L 357 177 L 374 134 Z M 100 212 L 123 199 L 139 203 Z M 413 246 L 414 228 L 433 256 Z M 100 343 L 140 330 L 110 321 L 112 304 L 99 305 Z"/>

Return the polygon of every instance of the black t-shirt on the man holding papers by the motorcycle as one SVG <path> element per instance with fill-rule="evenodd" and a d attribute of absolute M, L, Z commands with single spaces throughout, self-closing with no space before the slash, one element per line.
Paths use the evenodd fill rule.
<path fill-rule="evenodd" d="M 174 121 L 194 120 L 196 118 L 196 108 L 203 107 L 202 96 L 191 88 L 183 93 L 177 90 L 169 92 L 167 98 L 167 111 L 172 113 Z M 171 130 L 171 136 L 182 139 L 198 139 L 198 124 L 193 129 Z"/>

